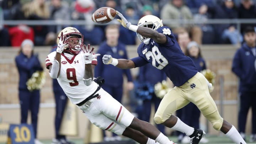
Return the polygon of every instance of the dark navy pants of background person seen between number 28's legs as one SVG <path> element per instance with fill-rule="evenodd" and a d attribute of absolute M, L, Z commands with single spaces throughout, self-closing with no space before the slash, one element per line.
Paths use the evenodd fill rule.
<path fill-rule="evenodd" d="M 188 126 L 199 128 L 199 117 L 201 112 L 197 108 L 197 106 L 194 105 L 194 103 L 190 102 L 181 110 L 182 110 L 181 120 L 184 123 L 186 123 Z M 185 136 L 185 134 L 183 135 Z"/>

